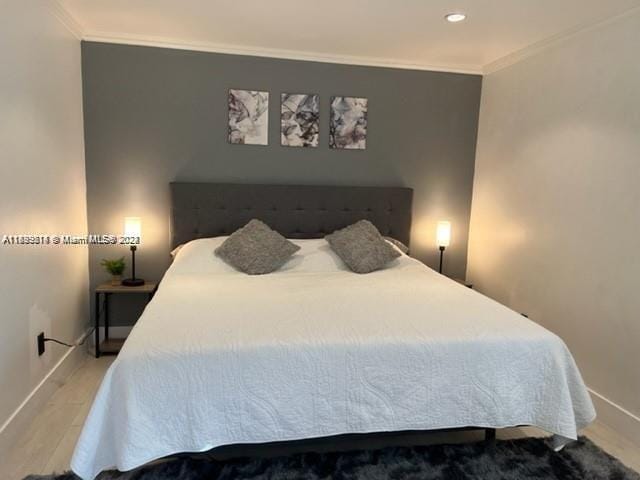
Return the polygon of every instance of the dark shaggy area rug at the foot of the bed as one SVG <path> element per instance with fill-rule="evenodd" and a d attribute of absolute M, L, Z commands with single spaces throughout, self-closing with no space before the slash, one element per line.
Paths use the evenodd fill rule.
<path fill-rule="evenodd" d="M 640 480 L 585 438 L 554 452 L 543 439 L 304 453 L 277 458 L 215 461 L 181 456 L 99 480 Z M 73 474 L 29 476 L 29 480 L 76 480 Z"/>

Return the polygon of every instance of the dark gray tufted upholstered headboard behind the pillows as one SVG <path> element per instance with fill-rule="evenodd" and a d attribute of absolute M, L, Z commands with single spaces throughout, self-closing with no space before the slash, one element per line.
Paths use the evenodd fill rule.
<path fill-rule="evenodd" d="M 322 238 L 361 220 L 409 245 L 413 190 L 171 183 L 172 248 L 195 238 L 229 235 L 252 218 L 287 238 Z"/>

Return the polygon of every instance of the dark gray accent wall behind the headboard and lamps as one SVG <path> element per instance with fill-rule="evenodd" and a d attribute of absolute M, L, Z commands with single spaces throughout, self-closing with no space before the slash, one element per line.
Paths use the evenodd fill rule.
<path fill-rule="evenodd" d="M 437 268 L 435 225 L 451 220 L 445 269 L 464 275 L 480 76 L 94 42 L 82 62 L 89 230 L 120 233 L 124 216 L 142 217 L 141 276 L 170 263 L 171 181 L 412 187 L 413 255 Z M 230 88 L 270 92 L 268 146 L 227 143 Z M 280 146 L 281 93 L 320 95 L 318 148 Z M 366 150 L 329 149 L 332 95 L 369 99 Z M 120 255 L 91 247 L 92 288 L 108 279 L 100 259 Z M 114 304 L 113 324 L 142 305 Z"/>

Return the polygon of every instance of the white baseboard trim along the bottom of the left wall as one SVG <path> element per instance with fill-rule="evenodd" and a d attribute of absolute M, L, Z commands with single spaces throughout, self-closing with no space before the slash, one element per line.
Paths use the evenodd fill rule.
<path fill-rule="evenodd" d="M 71 376 L 87 359 L 86 348 L 78 345 L 90 333 L 83 333 L 76 345 L 67 350 L 56 362 L 51 370 L 29 393 L 27 398 L 16 408 L 0 427 L 0 452 L 8 451 L 9 447 L 24 431 L 31 418 L 49 401 L 54 392 Z"/>

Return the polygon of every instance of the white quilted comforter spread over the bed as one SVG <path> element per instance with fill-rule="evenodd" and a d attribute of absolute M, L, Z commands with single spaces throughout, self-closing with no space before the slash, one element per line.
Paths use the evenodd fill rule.
<path fill-rule="evenodd" d="M 556 335 L 402 256 L 346 271 L 324 240 L 247 276 L 190 242 L 107 372 L 72 460 L 85 480 L 176 452 L 341 433 L 535 425 L 594 409 Z"/>

